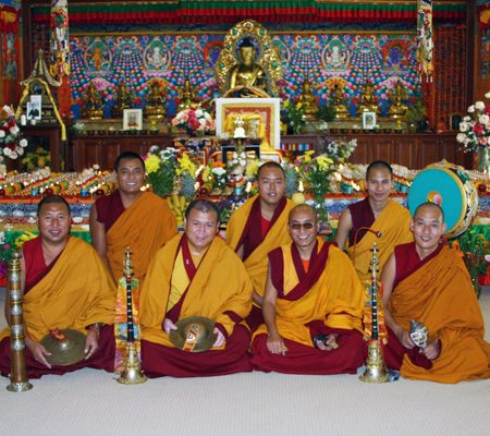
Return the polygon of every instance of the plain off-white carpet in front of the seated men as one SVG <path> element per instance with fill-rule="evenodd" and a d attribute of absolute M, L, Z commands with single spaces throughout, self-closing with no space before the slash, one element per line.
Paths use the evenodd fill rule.
<path fill-rule="evenodd" d="M 490 326 L 490 289 L 480 304 L 486 326 Z M 486 338 L 490 339 L 488 331 Z M 440 385 L 401 379 L 369 385 L 350 375 L 250 373 L 123 386 L 113 377 L 82 370 L 32 380 L 34 388 L 21 393 L 7 391 L 9 380 L 0 377 L 0 432 L 93 436 L 490 434 L 490 380 Z"/>

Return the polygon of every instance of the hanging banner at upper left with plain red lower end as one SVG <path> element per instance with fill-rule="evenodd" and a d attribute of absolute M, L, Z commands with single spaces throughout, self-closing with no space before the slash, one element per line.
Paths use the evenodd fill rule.
<path fill-rule="evenodd" d="M 51 3 L 51 75 L 61 86 L 58 89 L 58 105 L 61 117 L 70 119 L 70 41 L 68 1 L 52 0 Z"/>

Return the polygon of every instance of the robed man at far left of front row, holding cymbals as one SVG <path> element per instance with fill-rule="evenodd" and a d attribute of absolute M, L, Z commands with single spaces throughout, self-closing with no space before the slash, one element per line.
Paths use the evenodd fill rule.
<path fill-rule="evenodd" d="M 57 195 L 38 205 L 40 235 L 27 241 L 21 258 L 24 292 L 26 366 L 29 378 L 64 374 L 82 367 L 113 372 L 115 287 L 97 252 L 85 241 L 70 237 L 70 206 Z M 7 295 L 5 315 L 10 319 Z M 86 335 L 81 362 L 51 365 L 51 353 L 40 340 L 56 329 Z M 10 373 L 10 332 L 0 332 L 0 372 Z"/>

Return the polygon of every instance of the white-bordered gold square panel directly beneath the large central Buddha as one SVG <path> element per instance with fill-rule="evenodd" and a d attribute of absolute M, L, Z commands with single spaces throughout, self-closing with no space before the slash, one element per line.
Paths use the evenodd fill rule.
<path fill-rule="evenodd" d="M 242 119 L 247 140 L 260 138 L 264 150 L 280 149 L 280 107 L 279 98 L 217 98 L 216 133 L 233 137 L 236 121 Z"/>

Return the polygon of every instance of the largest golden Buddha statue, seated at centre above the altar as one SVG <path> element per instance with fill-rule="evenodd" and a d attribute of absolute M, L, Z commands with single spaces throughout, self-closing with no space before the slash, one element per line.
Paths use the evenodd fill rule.
<path fill-rule="evenodd" d="M 241 43 L 240 62 L 230 70 L 229 88 L 233 89 L 237 86 L 252 86 L 267 92 L 267 74 L 255 62 L 255 47 L 249 38 L 245 38 Z"/>

